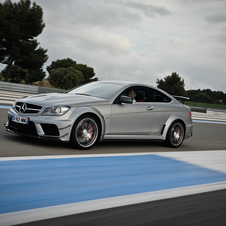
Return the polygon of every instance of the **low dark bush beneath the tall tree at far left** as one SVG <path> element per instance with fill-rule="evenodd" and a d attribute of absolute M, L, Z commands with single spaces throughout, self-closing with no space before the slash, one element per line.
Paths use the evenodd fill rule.
<path fill-rule="evenodd" d="M 7 72 L 7 67 L 1 71 L 3 78 L 5 78 Z M 9 80 L 14 83 L 21 83 L 22 80 L 25 80 L 27 77 L 28 71 L 18 67 L 16 65 L 12 66 Z"/>

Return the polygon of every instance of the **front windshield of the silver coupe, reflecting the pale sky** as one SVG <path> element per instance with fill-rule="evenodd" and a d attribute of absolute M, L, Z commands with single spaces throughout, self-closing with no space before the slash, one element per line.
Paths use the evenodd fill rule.
<path fill-rule="evenodd" d="M 118 90 L 120 90 L 122 87 L 123 85 L 119 85 L 119 84 L 92 82 L 92 83 L 88 83 L 86 85 L 80 86 L 78 88 L 75 88 L 69 91 L 68 93 L 108 99 L 112 95 L 114 95 Z"/>

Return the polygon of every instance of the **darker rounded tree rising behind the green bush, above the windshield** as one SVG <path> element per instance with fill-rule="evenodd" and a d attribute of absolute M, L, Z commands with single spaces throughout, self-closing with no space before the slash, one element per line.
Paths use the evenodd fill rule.
<path fill-rule="evenodd" d="M 58 68 L 69 68 L 69 67 L 73 67 L 75 70 L 80 71 L 82 73 L 84 79 L 80 80 L 80 82 L 81 81 L 82 82 L 79 83 L 79 85 L 83 84 L 83 83 L 87 83 L 87 82 L 92 82 L 92 81 L 97 81 L 98 80 L 98 78 L 93 78 L 95 76 L 93 68 L 88 67 L 85 64 L 77 64 L 76 61 L 73 61 L 70 58 L 53 61 L 51 63 L 51 65 L 46 68 L 46 70 L 50 74 L 51 70 L 53 70 L 53 69 L 56 70 Z M 50 81 L 52 81 L 52 79 L 50 79 Z"/>

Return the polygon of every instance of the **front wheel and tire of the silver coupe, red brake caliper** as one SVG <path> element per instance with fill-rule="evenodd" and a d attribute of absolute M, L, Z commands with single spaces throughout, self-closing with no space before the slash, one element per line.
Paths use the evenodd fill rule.
<path fill-rule="evenodd" d="M 100 125 L 90 114 L 83 115 L 75 122 L 71 132 L 71 144 L 74 148 L 87 150 L 100 138 Z"/>

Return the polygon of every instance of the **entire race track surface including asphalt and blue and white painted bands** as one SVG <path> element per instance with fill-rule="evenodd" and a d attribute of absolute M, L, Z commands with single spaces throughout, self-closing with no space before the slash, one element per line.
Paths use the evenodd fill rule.
<path fill-rule="evenodd" d="M 6 120 L 0 108 L 0 225 L 225 225 L 222 119 L 200 115 L 178 149 L 105 141 L 88 151 L 8 133 Z"/>

